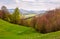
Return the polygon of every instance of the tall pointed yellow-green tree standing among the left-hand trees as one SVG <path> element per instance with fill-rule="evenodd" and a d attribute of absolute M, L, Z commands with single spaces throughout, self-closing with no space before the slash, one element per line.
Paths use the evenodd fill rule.
<path fill-rule="evenodd" d="M 18 24 L 20 22 L 20 11 L 18 8 L 15 9 L 14 13 L 12 14 L 12 22 Z"/>

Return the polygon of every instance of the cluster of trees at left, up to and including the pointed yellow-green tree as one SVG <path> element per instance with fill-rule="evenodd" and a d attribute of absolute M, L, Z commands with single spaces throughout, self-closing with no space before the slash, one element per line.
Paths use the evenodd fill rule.
<path fill-rule="evenodd" d="M 14 12 L 12 14 L 10 14 L 10 12 L 8 11 L 8 9 L 5 6 L 1 7 L 0 18 L 5 20 L 5 21 L 15 23 L 15 24 L 19 24 L 20 16 L 21 16 L 21 14 L 20 14 L 20 11 L 18 8 L 16 8 L 14 10 Z"/>

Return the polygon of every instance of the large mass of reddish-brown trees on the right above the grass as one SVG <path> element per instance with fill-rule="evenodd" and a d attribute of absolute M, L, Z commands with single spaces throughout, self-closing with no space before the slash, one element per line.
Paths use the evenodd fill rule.
<path fill-rule="evenodd" d="M 60 9 L 50 10 L 43 16 L 34 17 L 31 23 L 42 33 L 58 31 L 60 30 Z"/>

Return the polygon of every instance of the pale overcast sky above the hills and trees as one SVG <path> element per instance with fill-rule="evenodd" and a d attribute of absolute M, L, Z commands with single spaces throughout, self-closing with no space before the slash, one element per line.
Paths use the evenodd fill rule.
<path fill-rule="evenodd" d="M 3 5 L 9 9 L 49 10 L 60 7 L 60 0 L 0 0 L 0 7 Z"/>

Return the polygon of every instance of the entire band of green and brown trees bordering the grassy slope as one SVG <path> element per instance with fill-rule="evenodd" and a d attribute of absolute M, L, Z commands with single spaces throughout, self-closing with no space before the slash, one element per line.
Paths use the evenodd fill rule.
<path fill-rule="evenodd" d="M 36 15 L 25 19 L 18 8 L 12 14 L 5 6 L 1 7 L 0 18 L 10 23 L 33 27 L 38 32 L 49 33 L 60 30 L 60 9 L 46 11 L 42 16 Z"/>

